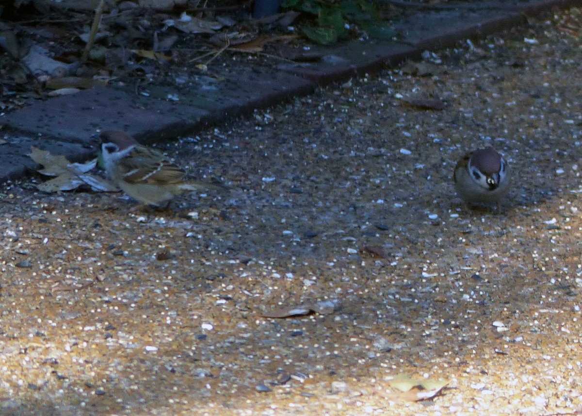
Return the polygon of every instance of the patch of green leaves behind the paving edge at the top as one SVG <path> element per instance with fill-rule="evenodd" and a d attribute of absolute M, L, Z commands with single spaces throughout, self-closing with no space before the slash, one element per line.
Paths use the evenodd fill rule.
<path fill-rule="evenodd" d="M 370 0 L 283 0 L 282 6 L 317 17 L 317 24 L 306 24 L 301 30 L 310 40 L 323 45 L 346 38 L 349 24 L 355 24 L 376 39 L 389 40 L 395 34 L 382 22 Z"/>

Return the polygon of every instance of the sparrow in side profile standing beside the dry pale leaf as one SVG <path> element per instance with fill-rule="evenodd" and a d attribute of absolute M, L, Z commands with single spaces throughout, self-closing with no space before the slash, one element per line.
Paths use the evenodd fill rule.
<path fill-rule="evenodd" d="M 123 192 L 141 203 L 167 207 L 174 196 L 199 189 L 226 188 L 186 179 L 186 172 L 158 150 L 143 146 L 127 133 L 101 133 L 105 171 Z"/>

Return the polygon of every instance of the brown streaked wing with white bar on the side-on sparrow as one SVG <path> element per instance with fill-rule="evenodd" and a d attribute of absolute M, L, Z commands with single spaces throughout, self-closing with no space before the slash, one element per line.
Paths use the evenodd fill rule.
<path fill-rule="evenodd" d="M 120 161 L 123 178 L 132 184 L 169 185 L 182 181 L 184 171 L 169 163 L 163 154 L 137 146 Z"/>

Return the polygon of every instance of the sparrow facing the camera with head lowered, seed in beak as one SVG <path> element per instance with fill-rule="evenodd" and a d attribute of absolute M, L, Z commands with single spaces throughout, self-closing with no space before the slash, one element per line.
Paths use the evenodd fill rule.
<path fill-rule="evenodd" d="M 493 203 L 501 213 L 501 199 L 508 193 L 511 180 L 508 164 L 492 147 L 470 151 L 455 166 L 453 174 L 457 195 L 469 204 Z"/>

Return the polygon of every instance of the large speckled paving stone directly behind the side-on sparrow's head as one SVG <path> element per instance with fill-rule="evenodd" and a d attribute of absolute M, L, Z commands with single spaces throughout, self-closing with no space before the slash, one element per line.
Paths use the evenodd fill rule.
<path fill-rule="evenodd" d="M 178 136 L 191 131 L 208 112 L 186 110 L 166 101 L 130 96 L 110 87 L 94 87 L 77 94 L 35 101 L 1 118 L 2 124 L 33 135 L 72 143 L 95 143 L 98 129 L 118 129 L 148 139 Z"/>

